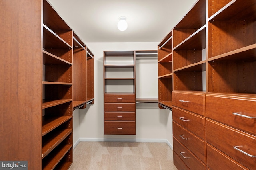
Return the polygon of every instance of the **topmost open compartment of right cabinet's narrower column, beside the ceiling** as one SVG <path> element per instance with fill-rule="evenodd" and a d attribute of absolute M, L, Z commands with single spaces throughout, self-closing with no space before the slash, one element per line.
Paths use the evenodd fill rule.
<path fill-rule="evenodd" d="M 194 34 L 206 24 L 206 0 L 198 0 L 173 29 L 173 47 Z"/>

